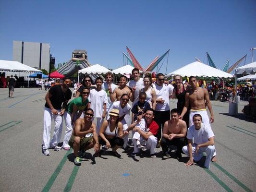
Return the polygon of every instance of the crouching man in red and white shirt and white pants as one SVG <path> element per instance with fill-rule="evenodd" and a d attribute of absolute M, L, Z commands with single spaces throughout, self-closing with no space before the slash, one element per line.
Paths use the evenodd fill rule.
<path fill-rule="evenodd" d="M 132 156 L 136 156 L 139 153 L 140 144 L 137 144 L 137 141 L 140 143 L 146 144 L 146 150 L 149 150 L 150 156 L 155 158 L 156 155 L 156 147 L 158 143 L 158 139 L 155 136 L 158 132 L 158 124 L 154 119 L 154 110 L 152 108 L 146 110 L 145 119 L 141 119 L 138 117 L 138 120 L 131 124 L 128 128 L 128 131 L 134 131 L 133 143 L 134 143 L 134 151 Z"/>

